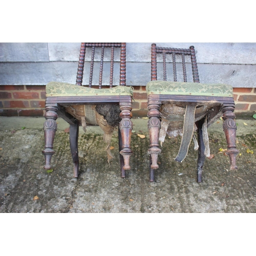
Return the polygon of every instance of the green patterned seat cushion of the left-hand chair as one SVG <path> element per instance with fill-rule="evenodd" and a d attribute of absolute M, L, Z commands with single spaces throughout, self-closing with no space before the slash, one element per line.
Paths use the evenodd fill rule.
<path fill-rule="evenodd" d="M 49 82 L 46 85 L 46 97 L 113 95 L 133 96 L 133 87 L 116 86 L 108 89 L 94 89 L 63 82 Z"/>

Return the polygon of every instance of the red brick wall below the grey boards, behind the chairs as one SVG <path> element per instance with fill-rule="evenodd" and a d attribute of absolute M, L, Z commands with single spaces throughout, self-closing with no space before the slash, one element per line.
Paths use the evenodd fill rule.
<path fill-rule="evenodd" d="M 236 112 L 256 111 L 256 88 L 234 88 Z M 43 116 L 45 86 L 0 86 L 0 116 Z M 134 87 L 133 116 L 146 116 L 145 87 Z"/>

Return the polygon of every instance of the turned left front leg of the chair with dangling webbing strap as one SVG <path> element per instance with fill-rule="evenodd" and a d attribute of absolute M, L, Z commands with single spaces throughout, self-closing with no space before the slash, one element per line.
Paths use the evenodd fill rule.
<path fill-rule="evenodd" d="M 150 149 L 148 153 L 151 155 L 151 174 L 150 181 L 154 181 L 154 170 L 158 169 L 157 159 L 161 153 L 159 148 L 159 131 L 160 131 L 160 104 L 148 104 L 147 116 L 150 118 L 147 123 L 148 133 L 150 135 Z"/>

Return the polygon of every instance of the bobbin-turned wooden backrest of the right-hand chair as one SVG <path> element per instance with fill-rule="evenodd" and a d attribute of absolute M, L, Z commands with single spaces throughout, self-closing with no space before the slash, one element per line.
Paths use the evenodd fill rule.
<path fill-rule="evenodd" d="M 173 80 L 177 81 L 177 65 L 176 55 L 181 55 L 183 80 L 187 82 L 185 55 L 190 55 L 193 81 L 199 82 L 197 60 L 194 46 L 190 46 L 189 49 L 167 48 L 157 47 L 156 44 L 152 44 L 151 47 L 151 80 L 157 80 L 157 54 L 162 54 L 163 59 L 163 80 L 166 81 L 166 54 L 172 54 L 173 60 Z"/>

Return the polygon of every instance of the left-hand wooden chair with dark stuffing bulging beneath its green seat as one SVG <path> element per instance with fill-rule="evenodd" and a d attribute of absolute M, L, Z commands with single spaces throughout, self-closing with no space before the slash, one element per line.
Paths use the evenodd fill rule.
<path fill-rule="evenodd" d="M 114 127 L 119 125 L 121 177 L 125 177 L 125 170 L 130 169 L 129 161 L 132 154 L 130 144 L 133 96 L 133 88 L 125 86 L 125 47 L 125 42 L 83 42 L 80 48 L 76 84 L 62 82 L 47 84 L 46 121 L 44 123 L 45 149 L 42 151 L 45 155 L 45 169 L 52 168 L 51 157 L 54 154 L 53 141 L 57 130 L 56 119 L 60 116 L 70 124 L 70 148 L 74 163 L 74 177 L 78 177 L 79 173 L 79 125 L 82 125 L 84 131 L 87 125 L 99 125 L 102 128 L 104 131 L 103 139 L 108 143 L 108 160 L 112 158 L 110 140 Z M 86 52 L 91 52 L 91 61 L 84 62 Z M 105 57 L 104 52 L 107 55 Z M 120 60 L 118 59 L 119 55 Z M 98 60 L 96 61 L 95 58 Z M 88 71 L 88 74 L 86 72 L 83 74 L 83 70 Z M 95 79 L 94 70 L 98 71 L 96 74 L 98 81 Z M 106 73 L 109 74 L 108 79 L 105 76 Z M 82 86 L 83 76 L 89 78 L 87 86 Z M 105 84 L 109 85 L 108 88 L 102 88 Z M 118 84 L 119 86 L 116 86 Z M 103 113 L 104 109 L 106 113 Z M 112 113 L 112 116 L 108 116 L 109 112 Z"/>

